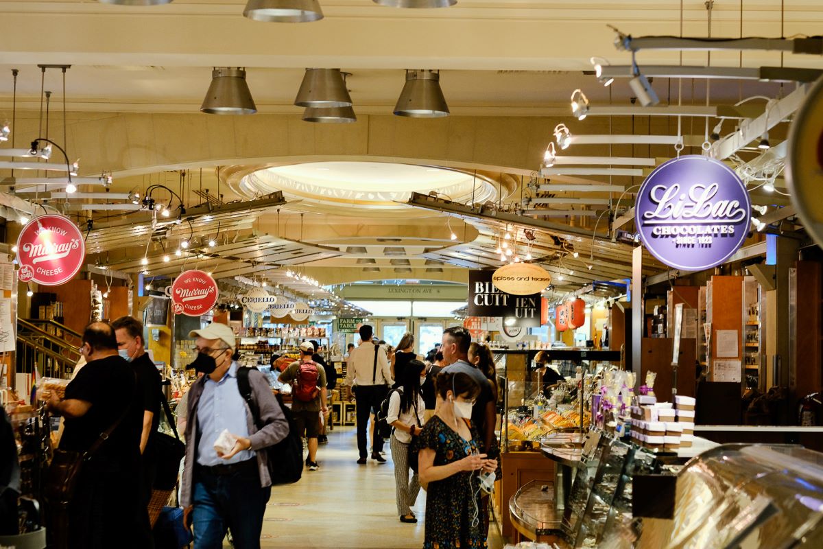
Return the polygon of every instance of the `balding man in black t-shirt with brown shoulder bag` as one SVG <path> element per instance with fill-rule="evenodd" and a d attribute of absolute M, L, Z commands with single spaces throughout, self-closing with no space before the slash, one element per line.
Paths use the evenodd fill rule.
<path fill-rule="evenodd" d="M 94 456 L 83 464 L 68 506 L 69 547 L 153 547 L 142 535 L 140 509 L 140 433 L 142 406 L 136 379 L 118 356 L 114 330 L 91 323 L 83 332 L 80 352 L 86 365 L 67 385 L 64 399 L 52 393 L 49 411 L 65 418 L 60 448 L 86 452 L 115 421 L 119 425 Z"/>

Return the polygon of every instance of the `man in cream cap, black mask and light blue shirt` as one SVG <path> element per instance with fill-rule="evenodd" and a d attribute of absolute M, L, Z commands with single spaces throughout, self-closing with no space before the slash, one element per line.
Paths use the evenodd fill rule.
<path fill-rule="evenodd" d="M 239 392 L 231 328 L 211 323 L 188 335 L 197 338 L 198 354 L 191 367 L 204 375 L 188 389 L 180 499 L 184 523 L 193 523 L 197 549 L 220 549 L 227 530 L 235 549 L 259 549 L 263 513 L 272 492 L 267 455 L 261 450 L 286 438 L 289 424 L 266 376 L 250 370 L 251 397 L 263 425 L 258 430 Z M 215 443 L 224 431 L 235 444 L 228 453 L 218 453 Z"/>

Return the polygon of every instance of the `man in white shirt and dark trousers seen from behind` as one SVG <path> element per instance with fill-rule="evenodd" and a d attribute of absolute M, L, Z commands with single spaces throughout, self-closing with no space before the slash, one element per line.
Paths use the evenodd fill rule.
<path fill-rule="evenodd" d="M 357 449 L 360 451 L 357 463 L 360 465 L 365 465 L 368 456 L 366 429 L 369 414 L 372 408 L 377 410 L 380 407 L 388 387 L 394 383 L 386 351 L 372 341 L 373 334 L 370 325 L 360 326 L 360 347 L 352 350 L 346 361 L 346 379 L 352 385 L 357 404 Z M 374 430 L 371 458 L 377 463 L 386 463 L 380 455 L 382 451 L 383 437 Z"/>

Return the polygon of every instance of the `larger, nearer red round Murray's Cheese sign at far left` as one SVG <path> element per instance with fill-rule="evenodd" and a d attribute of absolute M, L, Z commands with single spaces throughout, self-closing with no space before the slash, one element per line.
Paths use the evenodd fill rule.
<path fill-rule="evenodd" d="M 83 234 L 72 220 L 56 214 L 35 217 L 17 237 L 17 277 L 21 282 L 58 286 L 80 270 L 86 260 Z"/>

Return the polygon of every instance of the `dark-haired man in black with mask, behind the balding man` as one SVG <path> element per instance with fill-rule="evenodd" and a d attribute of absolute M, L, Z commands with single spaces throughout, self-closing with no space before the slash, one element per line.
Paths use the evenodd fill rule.
<path fill-rule="evenodd" d="M 143 348 L 143 323 L 130 316 L 123 316 L 111 323 L 114 336 L 117 337 L 119 355 L 132 365 L 137 375 L 138 398 L 143 409 L 143 428 L 140 435 L 140 454 L 142 454 L 142 506 L 148 507 L 151 500 L 151 487 L 157 470 L 156 449 L 154 446 L 157 426 L 160 425 L 160 371 Z"/>

